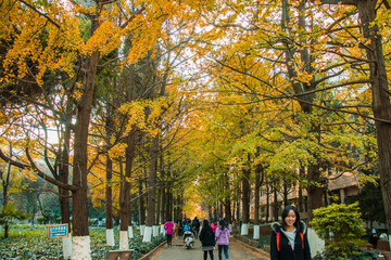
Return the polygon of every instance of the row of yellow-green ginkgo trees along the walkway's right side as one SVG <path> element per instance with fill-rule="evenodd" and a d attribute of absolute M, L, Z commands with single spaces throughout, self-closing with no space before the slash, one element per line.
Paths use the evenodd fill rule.
<path fill-rule="evenodd" d="M 206 152 L 190 153 L 209 161 L 200 169 L 205 199 L 228 216 L 229 199 L 240 197 L 248 223 L 254 183 L 258 222 L 262 185 L 285 195 L 300 185 L 311 220 L 328 172 L 376 165 L 388 207 L 389 15 L 388 1 L 229 1 L 203 16 L 211 27 L 194 52 L 209 80 L 198 103 Z"/>

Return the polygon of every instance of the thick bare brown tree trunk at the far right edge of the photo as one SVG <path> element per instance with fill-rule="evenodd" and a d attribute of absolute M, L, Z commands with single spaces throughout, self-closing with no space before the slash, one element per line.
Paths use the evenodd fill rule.
<path fill-rule="evenodd" d="M 357 1 L 363 35 L 370 39 L 369 46 L 365 49 L 369 62 L 371 90 L 373 90 L 373 110 L 376 125 L 380 185 L 383 196 L 386 210 L 387 227 L 391 231 L 391 104 L 389 83 L 386 70 L 384 54 L 382 51 L 381 35 L 376 24 L 376 0 Z"/>

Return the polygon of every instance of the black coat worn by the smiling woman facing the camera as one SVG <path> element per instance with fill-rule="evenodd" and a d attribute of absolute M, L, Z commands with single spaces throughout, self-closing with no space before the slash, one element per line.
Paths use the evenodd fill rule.
<path fill-rule="evenodd" d="M 294 251 L 289 245 L 288 237 L 283 234 L 282 226 L 279 223 L 272 224 L 272 236 L 270 236 L 270 259 L 272 260 L 311 260 L 310 244 L 306 235 L 306 226 L 304 222 L 300 222 L 297 235 L 294 237 Z M 280 232 L 279 238 L 279 251 L 277 250 L 277 233 Z M 303 240 L 300 235 L 301 232 L 304 237 L 304 249 Z"/>

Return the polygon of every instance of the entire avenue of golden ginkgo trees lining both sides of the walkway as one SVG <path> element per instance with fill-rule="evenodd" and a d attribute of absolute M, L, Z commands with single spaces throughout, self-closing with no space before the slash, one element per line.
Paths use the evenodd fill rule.
<path fill-rule="evenodd" d="M 88 196 L 109 230 L 119 216 L 127 248 L 136 202 L 146 240 L 182 204 L 245 226 L 253 198 L 260 223 L 263 190 L 287 198 L 300 185 L 312 219 L 336 169 L 376 166 L 391 227 L 387 0 L 20 0 L 0 12 L 0 156 L 58 186 L 74 256 L 90 258 Z"/>

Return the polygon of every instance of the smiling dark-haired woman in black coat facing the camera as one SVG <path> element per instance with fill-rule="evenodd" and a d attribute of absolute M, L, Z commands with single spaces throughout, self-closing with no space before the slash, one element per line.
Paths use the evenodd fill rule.
<path fill-rule="evenodd" d="M 298 209 L 288 205 L 281 213 L 282 223 L 272 224 L 272 260 L 311 260 L 306 225 L 300 220 Z"/>

